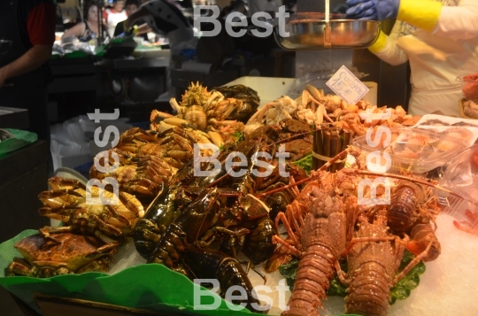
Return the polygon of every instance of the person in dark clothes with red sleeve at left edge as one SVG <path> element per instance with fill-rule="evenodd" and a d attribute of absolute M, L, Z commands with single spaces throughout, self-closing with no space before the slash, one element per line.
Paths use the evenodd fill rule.
<path fill-rule="evenodd" d="M 0 55 L 0 106 L 27 109 L 29 130 L 49 148 L 46 87 L 51 73 L 46 62 L 55 42 L 55 16 L 52 0 L 0 1 L 0 38 L 12 41 Z"/>

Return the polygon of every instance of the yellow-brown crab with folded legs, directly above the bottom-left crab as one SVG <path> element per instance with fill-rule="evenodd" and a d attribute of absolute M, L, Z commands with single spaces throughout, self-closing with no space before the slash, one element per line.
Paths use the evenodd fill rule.
<path fill-rule="evenodd" d="M 120 191 L 119 204 L 87 204 L 87 189 L 80 181 L 52 177 L 48 181 L 50 191 L 38 196 L 44 207 L 38 212 L 42 216 L 61 220 L 63 227 L 43 227 L 40 233 L 59 243 L 51 234 L 79 233 L 95 235 L 104 243 L 114 246 L 133 232 L 138 220 L 144 216 L 143 205 L 132 195 Z M 99 197 L 99 188 L 90 188 L 91 197 Z M 112 198 L 113 193 L 104 189 L 104 197 Z"/>

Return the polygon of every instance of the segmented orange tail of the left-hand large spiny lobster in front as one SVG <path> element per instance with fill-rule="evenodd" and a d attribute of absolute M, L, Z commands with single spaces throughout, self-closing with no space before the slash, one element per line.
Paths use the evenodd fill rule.
<path fill-rule="evenodd" d="M 326 297 L 329 280 L 334 275 L 334 262 L 335 256 L 328 248 L 321 245 L 307 248 L 298 266 L 289 311 L 282 312 L 281 316 L 319 315 L 317 307 L 322 306 L 320 300 Z"/>

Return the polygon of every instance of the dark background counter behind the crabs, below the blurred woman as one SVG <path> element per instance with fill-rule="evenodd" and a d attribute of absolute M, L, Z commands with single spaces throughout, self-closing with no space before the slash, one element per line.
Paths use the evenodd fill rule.
<path fill-rule="evenodd" d="M 144 114 L 144 103 L 154 103 L 166 91 L 166 57 L 57 58 L 49 65 L 50 121 L 71 119 L 108 104 L 127 104 L 125 114 L 137 117 Z M 148 113 L 141 119 L 147 120 Z"/>

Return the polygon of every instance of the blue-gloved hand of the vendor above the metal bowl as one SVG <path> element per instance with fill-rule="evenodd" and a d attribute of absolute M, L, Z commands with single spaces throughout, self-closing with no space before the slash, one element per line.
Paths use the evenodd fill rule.
<path fill-rule="evenodd" d="M 396 19 L 400 0 L 347 0 L 350 6 L 346 17 L 350 19 Z"/>

